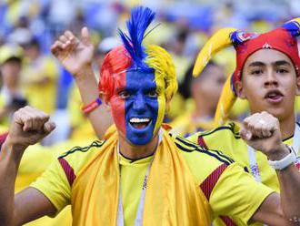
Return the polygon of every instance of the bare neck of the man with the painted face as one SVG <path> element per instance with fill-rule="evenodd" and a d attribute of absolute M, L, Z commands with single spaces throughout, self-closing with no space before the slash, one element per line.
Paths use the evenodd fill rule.
<path fill-rule="evenodd" d="M 133 145 L 127 139 L 120 137 L 120 152 L 127 159 L 142 159 L 154 154 L 158 144 L 158 133 L 145 145 Z"/>

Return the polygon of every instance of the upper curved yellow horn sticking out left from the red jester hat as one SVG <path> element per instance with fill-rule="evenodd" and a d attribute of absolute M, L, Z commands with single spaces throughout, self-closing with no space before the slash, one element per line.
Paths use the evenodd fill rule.
<path fill-rule="evenodd" d="M 232 45 L 230 34 L 235 31 L 235 28 L 223 28 L 209 38 L 195 60 L 195 67 L 193 70 L 194 77 L 201 74 L 209 60 L 215 56 L 218 51 L 226 46 Z"/>

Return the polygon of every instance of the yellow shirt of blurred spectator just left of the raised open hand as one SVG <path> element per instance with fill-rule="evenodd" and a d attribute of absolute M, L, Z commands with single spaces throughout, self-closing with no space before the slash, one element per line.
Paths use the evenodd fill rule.
<path fill-rule="evenodd" d="M 21 86 L 25 93 L 25 98 L 34 108 L 52 114 L 56 109 L 56 87 L 58 69 L 55 61 L 49 56 L 40 56 L 35 62 L 25 63 L 21 73 Z M 47 78 L 41 84 L 42 78 Z"/>

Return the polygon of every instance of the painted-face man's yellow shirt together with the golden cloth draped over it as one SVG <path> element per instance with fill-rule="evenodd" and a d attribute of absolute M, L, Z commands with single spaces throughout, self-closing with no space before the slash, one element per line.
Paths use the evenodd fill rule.
<path fill-rule="evenodd" d="M 119 178 L 115 128 L 109 128 L 108 137 L 66 152 L 63 158 L 76 176 L 72 187 L 58 160 L 31 185 L 51 200 L 57 212 L 72 203 L 75 225 L 115 225 Z M 121 157 L 125 225 L 135 221 L 145 170 L 152 158 L 131 161 Z M 225 212 L 249 221 L 272 190 L 256 183 L 237 164 L 223 172 L 209 203 L 200 190 L 200 184 L 226 160 L 164 131 L 149 175 L 143 225 L 210 225 L 213 217 Z"/>

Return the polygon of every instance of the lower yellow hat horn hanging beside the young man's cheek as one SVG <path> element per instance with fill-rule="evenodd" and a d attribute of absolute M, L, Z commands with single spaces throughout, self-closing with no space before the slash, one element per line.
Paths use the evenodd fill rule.
<path fill-rule="evenodd" d="M 235 104 L 235 93 L 231 88 L 232 77 L 227 77 L 225 85 L 222 89 L 221 97 L 215 110 L 214 126 L 219 127 L 225 124 L 228 119 L 229 111 Z"/>

